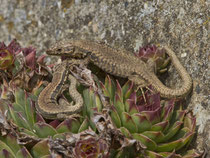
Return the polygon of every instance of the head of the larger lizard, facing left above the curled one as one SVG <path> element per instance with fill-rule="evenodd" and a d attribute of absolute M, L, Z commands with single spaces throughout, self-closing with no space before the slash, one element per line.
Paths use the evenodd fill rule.
<path fill-rule="evenodd" d="M 71 41 L 60 41 L 49 48 L 48 55 L 64 56 L 75 59 L 83 59 L 88 56 L 88 52 L 75 46 Z"/>

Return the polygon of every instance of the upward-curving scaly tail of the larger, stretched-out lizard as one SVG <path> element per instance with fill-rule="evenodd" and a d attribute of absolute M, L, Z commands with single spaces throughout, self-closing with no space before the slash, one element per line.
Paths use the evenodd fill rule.
<path fill-rule="evenodd" d="M 175 66 L 176 70 L 178 71 L 178 74 L 181 76 L 181 79 L 183 81 L 183 85 L 180 88 L 172 89 L 169 87 L 166 87 L 157 77 L 156 75 L 152 76 L 152 79 L 154 79 L 153 82 L 155 83 L 152 85 L 155 90 L 160 92 L 160 95 L 164 98 L 183 98 L 185 97 L 192 89 L 192 79 L 190 75 L 187 73 L 186 69 L 182 66 L 179 59 L 175 55 L 175 53 L 167 46 L 163 47 L 167 54 L 170 56 L 171 61 L 173 65 Z"/>

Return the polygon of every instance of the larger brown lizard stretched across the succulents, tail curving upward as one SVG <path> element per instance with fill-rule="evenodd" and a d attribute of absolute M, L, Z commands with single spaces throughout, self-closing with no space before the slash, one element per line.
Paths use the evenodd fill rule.
<path fill-rule="evenodd" d="M 86 40 L 61 41 L 47 50 L 47 54 L 92 62 L 102 70 L 115 76 L 128 78 L 140 87 L 152 85 L 154 90 L 164 98 L 185 97 L 192 88 L 192 79 L 175 53 L 167 46 L 164 46 L 164 49 L 183 80 L 181 88 L 172 89 L 165 86 L 149 65 L 131 52 L 113 49 L 102 43 Z"/>

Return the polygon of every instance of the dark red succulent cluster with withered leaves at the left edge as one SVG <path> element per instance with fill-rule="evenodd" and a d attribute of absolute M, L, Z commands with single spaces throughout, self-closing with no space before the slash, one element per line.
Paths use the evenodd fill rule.
<path fill-rule="evenodd" d="M 22 48 L 14 39 L 6 46 L 0 43 L 0 95 L 11 100 L 16 87 L 33 91 L 43 80 L 50 80 L 50 68 L 44 63 L 45 56 L 36 57 L 33 47 Z"/>

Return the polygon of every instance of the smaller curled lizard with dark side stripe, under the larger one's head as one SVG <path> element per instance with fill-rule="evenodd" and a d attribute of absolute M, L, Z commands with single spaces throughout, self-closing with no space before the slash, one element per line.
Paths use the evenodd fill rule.
<path fill-rule="evenodd" d="M 65 119 L 75 116 L 83 107 L 83 98 L 76 89 L 77 80 L 69 75 L 70 66 L 74 63 L 64 61 L 56 65 L 52 82 L 45 87 L 38 97 L 37 110 L 47 119 Z M 68 87 L 65 86 L 67 79 L 70 80 L 69 94 L 73 102 L 69 103 L 59 96 Z"/>

